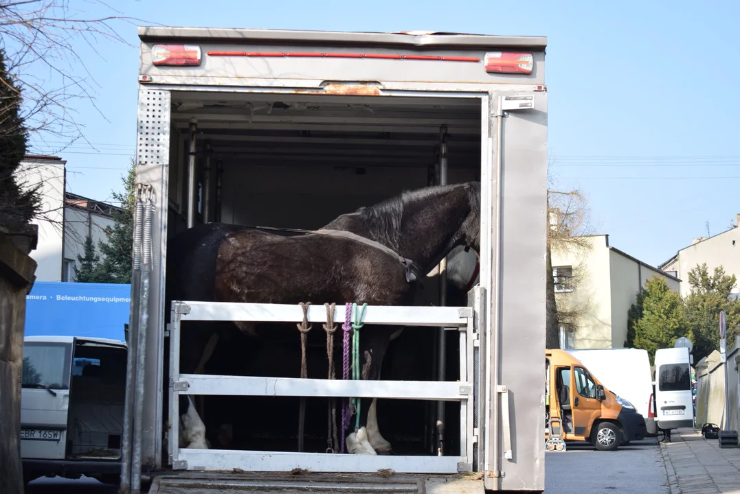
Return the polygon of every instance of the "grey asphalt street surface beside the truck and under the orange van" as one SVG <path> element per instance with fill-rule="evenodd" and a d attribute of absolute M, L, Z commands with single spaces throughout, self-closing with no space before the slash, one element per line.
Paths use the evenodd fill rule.
<path fill-rule="evenodd" d="M 118 487 L 94 478 L 38 478 L 27 494 L 115 494 Z M 545 453 L 545 494 L 667 494 L 665 467 L 655 439 L 616 451 L 569 444 L 565 453 Z"/>

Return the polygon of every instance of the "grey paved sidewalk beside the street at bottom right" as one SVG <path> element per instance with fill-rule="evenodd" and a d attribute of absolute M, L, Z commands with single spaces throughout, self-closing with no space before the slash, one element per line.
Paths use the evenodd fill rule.
<path fill-rule="evenodd" d="M 670 494 L 740 494 L 740 449 L 720 449 L 717 439 L 679 429 L 660 444 Z"/>

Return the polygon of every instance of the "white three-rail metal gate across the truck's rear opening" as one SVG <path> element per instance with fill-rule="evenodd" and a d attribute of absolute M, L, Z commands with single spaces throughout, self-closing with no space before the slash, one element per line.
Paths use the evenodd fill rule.
<path fill-rule="evenodd" d="M 344 311 L 334 321 L 344 322 Z M 183 321 L 243 321 L 300 323 L 303 309 L 276 303 L 223 303 L 173 301 L 170 318 L 169 432 L 170 464 L 175 470 L 233 470 L 289 472 L 459 473 L 472 470 L 474 447 L 473 352 L 474 311 L 471 307 L 368 306 L 363 331 L 373 325 L 444 327 L 460 333 L 460 381 L 326 380 L 286 377 L 243 377 L 180 374 L 180 335 Z M 326 323 L 323 306 L 309 306 L 311 323 Z M 431 335 L 430 335 L 431 336 Z M 369 456 L 337 453 L 286 453 L 276 451 L 197 450 L 180 448 L 179 396 L 219 395 L 253 397 L 357 397 L 420 399 L 460 402 L 460 456 Z"/>

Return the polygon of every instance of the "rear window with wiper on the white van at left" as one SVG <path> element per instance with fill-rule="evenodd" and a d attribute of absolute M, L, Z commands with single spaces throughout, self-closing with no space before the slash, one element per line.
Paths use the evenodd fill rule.
<path fill-rule="evenodd" d="M 21 384 L 24 388 L 70 388 L 69 343 L 25 342 Z"/>

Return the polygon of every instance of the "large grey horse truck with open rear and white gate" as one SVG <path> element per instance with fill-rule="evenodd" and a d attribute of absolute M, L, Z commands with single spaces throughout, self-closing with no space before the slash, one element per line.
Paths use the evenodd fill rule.
<path fill-rule="evenodd" d="M 138 34 L 121 492 L 544 490 L 546 38 L 183 27 Z M 468 194 L 464 214 L 438 208 L 454 191 Z M 414 225 L 459 231 L 428 232 L 444 250 L 426 265 L 393 241 L 324 228 L 359 211 L 420 252 L 437 247 L 404 233 Z M 320 261 L 320 250 L 279 258 L 273 244 L 260 244 L 268 261 L 244 287 L 240 263 L 254 246 L 232 249 L 235 264 L 224 266 L 223 244 L 206 259 L 199 253 L 212 245 L 192 236 L 193 250 L 175 256 L 189 232 L 242 228 L 235 225 L 257 225 L 250 231 L 265 239 L 324 236 L 354 242 L 337 252 L 395 255 L 414 298 L 363 308 L 366 300 L 339 295 L 312 300 L 326 293 L 318 287 L 298 298 L 176 295 L 222 275 L 235 292 L 260 283 L 287 290 L 294 265 L 323 288 L 359 276 L 334 258 Z M 462 257 L 451 257 L 471 247 L 476 265 L 463 276 L 455 271 Z M 363 289 L 393 290 L 368 262 Z M 248 334 L 261 323 L 283 324 L 275 335 L 290 343 Z M 241 331 L 216 329 L 222 324 Z M 362 345 L 381 326 L 397 332 L 368 374 L 373 352 Z M 203 343 L 185 343 L 195 334 Z M 351 378 L 342 374 L 348 345 Z M 186 351 L 202 354 L 197 367 L 184 367 Z M 354 429 L 338 427 L 337 411 L 355 414 Z M 337 440 L 337 430 L 348 438 Z M 367 446 L 349 447 L 350 437 Z"/>

